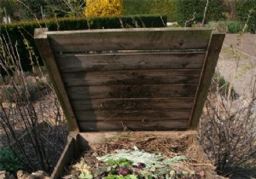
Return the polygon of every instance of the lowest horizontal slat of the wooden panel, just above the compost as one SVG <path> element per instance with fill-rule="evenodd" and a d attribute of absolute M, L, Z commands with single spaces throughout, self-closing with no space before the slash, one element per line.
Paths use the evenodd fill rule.
<path fill-rule="evenodd" d="M 187 120 L 179 121 L 112 121 L 106 122 L 79 122 L 79 127 L 82 131 L 93 130 L 186 130 L 188 125 Z"/>

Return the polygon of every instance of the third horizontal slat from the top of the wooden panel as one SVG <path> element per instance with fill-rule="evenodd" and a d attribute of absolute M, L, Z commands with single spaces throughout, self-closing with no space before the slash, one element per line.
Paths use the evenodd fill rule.
<path fill-rule="evenodd" d="M 142 84 L 196 84 L 201 70 L 166 69 L 140 71 L 74 72 L 64 73 L 67 86 L 142 85 Z"/>

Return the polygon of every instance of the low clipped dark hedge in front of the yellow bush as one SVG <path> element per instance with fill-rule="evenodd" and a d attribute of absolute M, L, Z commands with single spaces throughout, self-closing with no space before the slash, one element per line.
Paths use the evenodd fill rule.
<path fill-rule="evenodd" d="M 122 21 L 122 23 L 120 23 Z M 167 17 L 165 15 L 130 15 L 121 17 L 106 17 L 93 19 L 54 19 L 46 21 L 28 21 L 10 25 L 1 25 L 0 32 L 8 37 L 13 44 L 17 44 L 20 55 L 21 66 L 24 71 L 32 69 L 32 62 L 39 61 L 43 65 L 38 49 L 33 40 L 35 28 L 48 27 L 49 31 L 81 30 L 81 29 L 108 29 L 108 28 L 129 28 L 129 27 L 164 27 Z M 29 44 L 29 45 L 26 45 Z M 35 53 L 30 60 L 30 53 Z"/>

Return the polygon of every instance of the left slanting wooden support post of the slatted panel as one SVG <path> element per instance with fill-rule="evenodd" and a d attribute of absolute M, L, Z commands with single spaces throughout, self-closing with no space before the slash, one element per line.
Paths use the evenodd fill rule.
<path fill-rule="evenodd" d="M 47 38 L 47 29 L 36 29 L 34 34 L 35 42 L 38 46 L 41 57 L 44 60 L 44 65 L 48 69 L 49 78 L 55 88 L 56 95 L 61 102 L 62 110 L 67 118 L 67 122 L 73 131 L 79 131 L 79 126 L 76 122 L 73 108 L 68 99 L 68 95 L 65 86 L 61 80 L 61 73 L 55 62 L 55 55 L 49 45 L 49 39 Z"/>

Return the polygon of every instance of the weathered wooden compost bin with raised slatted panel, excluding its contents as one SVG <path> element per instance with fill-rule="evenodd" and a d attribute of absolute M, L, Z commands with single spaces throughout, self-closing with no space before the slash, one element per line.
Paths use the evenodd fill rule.
<path fill-rule="evenodd" d="M 193 130 L 195 140 L 224 33 L 37 29 L 35 40 L 73 130 L 51 176 L 59 178 L 81 149 L 124 130 L 168 136 Z"/>

